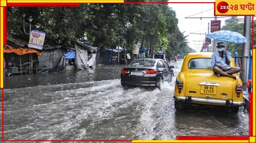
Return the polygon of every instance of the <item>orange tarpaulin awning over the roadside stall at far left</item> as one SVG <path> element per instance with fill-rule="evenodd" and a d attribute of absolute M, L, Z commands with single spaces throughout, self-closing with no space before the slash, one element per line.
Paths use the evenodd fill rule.
<path fill-rule="evenodd" d="M 41 55 L 43 52 L 38 52 L 36 49 L 29 48 L 14 48 L 9 45 L 4 45 L 4 53 L 15 53 L 18 55 L 25 55 L 30 53 L 35 53 L 37 55 Z"/>

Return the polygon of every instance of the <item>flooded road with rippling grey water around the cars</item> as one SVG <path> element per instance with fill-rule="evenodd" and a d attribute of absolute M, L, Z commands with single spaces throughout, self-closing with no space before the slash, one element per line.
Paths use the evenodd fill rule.
<path fill-rule="evenodd" d="M 171 63 L 174 75 L 182 61 Z M 248 135 L 248 113 L 193 105 L 174 109 L 174 81 L 123 88 L 120 66 L 5 78 L 4 139 L 156 139 Z"/>

